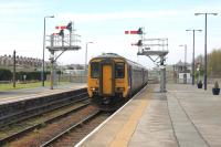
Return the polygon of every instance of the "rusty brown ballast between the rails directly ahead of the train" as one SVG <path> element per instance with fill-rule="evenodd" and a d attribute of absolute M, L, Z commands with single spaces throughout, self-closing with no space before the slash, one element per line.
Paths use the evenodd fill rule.
<path fill-rule="evenodd" d="M 85 122 L 86 118 L 93 117 L 95 113 L 98 113 L 98 111 L 95 107 L 91 105 L 85 106 L 84 108 L 76 111 L 72 115 L 69 115 L 67 117 L 64 117 L 56 122 L 48 124 L 42 128 L 35 129 L 34 132 L 27 134 L 25 136 L 23 136 L 22 138 L 19 138 L 18 140 L 7 144 L 7 146 L 9 147 L 10 146 L 39 147 L 48 143 L 49 140 L 53 140 L 53 138 L 56 138 L 56 136 L 60 136 L 60 134 L 64 133 L 66 129 L 69 129 L 73 125 L 78 124 L 77 126 L 80 126 L 80 124 Z"/>

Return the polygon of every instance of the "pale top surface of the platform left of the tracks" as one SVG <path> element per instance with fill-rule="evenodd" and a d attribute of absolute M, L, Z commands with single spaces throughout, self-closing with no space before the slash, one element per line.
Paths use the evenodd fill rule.
<path fill-rule="evenodd" d="M 34 98 L 38 96 L 51 95 L 51 94 L 56 94 L 56 93 L 63 93 L 63 92 L 84 88 L 84 87 L 86 87 L 86 83 L 71 83 L 71 84 L 54 86 L 54 90 L 50 90 L 49 86 L 45 86 L 45 87 L 1 91 L 0 105 L 15 102 L 15 101 Z"/>

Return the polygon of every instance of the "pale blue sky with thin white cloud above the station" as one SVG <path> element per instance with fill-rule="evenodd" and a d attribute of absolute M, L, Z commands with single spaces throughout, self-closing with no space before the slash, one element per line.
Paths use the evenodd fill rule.
<path fill-rule="evenodd" d="M 146 39 L 168 39 L 166 64 L 183 61 L 181 44 L 187 44 L 187 61 L 191 62 L 193 35 L 187 29 L 202 30 L 196 32 L 196 56 L 204 54 L 204 15 L 196 17 L 196 12 L 219 13 L 208 15 L 208 52 L 221 48 L 220 6 L 220 0 L 0 0 L 0 55 L 15 50 L 17 55 L 42 59 L 43 20 L 54 15 L 46 19 L 46 35 L 57 32 L 56 25 L 72 21 L 82 46 L 62 54 L 59 64 L 84 64 L 85 44 L 93 42 L 87 46 L 87 61 L 113 52 L 150 69 L 151 60 L 137 56 L 138 49 L 131 45 L 139 36 L 124 33 L 140 27 L 145 28 Z M 49 59 L 45 50 L 45 60 Z"/>

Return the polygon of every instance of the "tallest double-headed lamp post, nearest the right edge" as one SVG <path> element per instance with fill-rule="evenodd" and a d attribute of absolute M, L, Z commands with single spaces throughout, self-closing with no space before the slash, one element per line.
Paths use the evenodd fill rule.
<path fill-rule="evenodd" d="M 204 14 L 204 91 L 207 90 L 207 15 L 218 15 L 218 13 L 194 13 L 194 15 Z"/>

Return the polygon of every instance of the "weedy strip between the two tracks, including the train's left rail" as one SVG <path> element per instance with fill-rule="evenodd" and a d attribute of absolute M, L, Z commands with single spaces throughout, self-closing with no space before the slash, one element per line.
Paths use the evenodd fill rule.
<path fill-rule="evenodd" d="M 0 146 L 15 140 L 28 133 L 45 127 L 48 124 L 65 118 L 90 105 L 88 97 L 81 97 L 66 105 L 50 108 L 44 113 L 13 120 L 13 123 L 1 126 Z"/>

